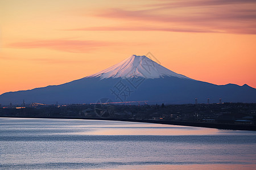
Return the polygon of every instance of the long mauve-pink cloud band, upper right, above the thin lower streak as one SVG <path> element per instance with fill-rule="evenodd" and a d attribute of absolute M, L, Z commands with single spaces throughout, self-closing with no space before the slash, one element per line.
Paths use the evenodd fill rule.
<path fill-rule="evenodd" d="M 138 10 L 138 11 L 129 11 L 123 10 L 121 8 L 112 8 L 101 13 L 96 14 L 96 16 L 104 18 L 115 18 L 115 19 L 127 19 L 127 20 L 139 20 L 139 21 L 154 21 L 154 22 L 167 22 L 167 23 L 208 23 L 208 22 L 232 22 L 232 21 L 246 21 L 246 20 L 255 20 L 256 19 L 256 10 L 255 12 L 245 12 L 241 9 L 219 9 L 214 11 L 210 9 L 208 11 L 195 11 L 195 12 L 186 12 L 183 14 L 156 14 L 154 11 L 148 10 Z"/>

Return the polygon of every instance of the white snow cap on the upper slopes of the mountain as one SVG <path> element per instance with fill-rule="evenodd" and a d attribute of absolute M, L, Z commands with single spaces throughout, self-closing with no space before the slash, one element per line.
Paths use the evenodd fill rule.
<path fill-rule="evenodd" d="M 85 78 L 131 78 L 134 76 L 142 76 L 148 79 L 163 78 L 163 76 L 175 76 L 182 79 L 191 79 L 187 76 L 177 74 L 174 71 L 166 69 L 166 67 L 159 65 L 146 56 L 136 55 L 133 55 L 117 63 L 116 65 L 109 67 L 108 69 L 102 70 L 96 74 L 86 76 Z"/>

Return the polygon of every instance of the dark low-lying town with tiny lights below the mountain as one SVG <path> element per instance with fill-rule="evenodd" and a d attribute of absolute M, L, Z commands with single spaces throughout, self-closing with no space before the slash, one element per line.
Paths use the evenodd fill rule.
<path fill-rule="evenodd" d="M 214 128 L 216 125 L 247 126 L 256 130 L 256 103 L 213 104 L 54 104 L 0 105 L 0 117 L 83 118 L 123 120 Z M 213 126 L 208 126 L 213 125 Z M 226 126 L 224 126 L 225 129 Z M 236 129 L 236 128 L 226 128 Z M 239 129 L 239 128 L 238 128 Z"/>

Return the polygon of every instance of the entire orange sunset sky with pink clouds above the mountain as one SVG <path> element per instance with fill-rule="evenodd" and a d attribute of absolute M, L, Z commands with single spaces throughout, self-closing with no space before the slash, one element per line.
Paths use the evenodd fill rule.
<path fill-rule="evenodd" d="M 0 1 L 0 94 L 151 52 L 189 78 L 256 88 L 256 1 Z"/>

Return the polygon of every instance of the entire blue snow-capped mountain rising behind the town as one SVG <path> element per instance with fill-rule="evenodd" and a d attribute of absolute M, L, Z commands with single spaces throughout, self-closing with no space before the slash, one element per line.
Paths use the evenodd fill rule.
<path fill-rule="evenodd" d="M 174 73 L 146 56 L 131 56 L 124 61 L 85 78 L 57 86 L 7 92 L 0 104 L 96 103 L 102 98 L 112 101 L 148 101 L 147 103 L 184 104 L 223 102 L 256 103 L 256 90 L 247 84 L 218 86 Z"/>

